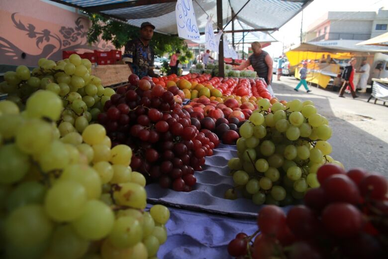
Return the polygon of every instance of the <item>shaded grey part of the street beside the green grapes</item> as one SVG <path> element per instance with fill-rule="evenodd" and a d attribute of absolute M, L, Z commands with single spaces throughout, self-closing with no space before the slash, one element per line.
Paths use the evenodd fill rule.
<path fill-rule="evenodd" d="M 388 176 L 388 171 L 386 170 L 388 164 L 387 142 L 356 127 L 349 121 L 336 117 L 333 112 L 335 107 L 331 107 L 329 102 L 330 99 L 335 97 L 317 95 L 315 93 L 312 95 L 301 91 L 295 92 L 290 85 L 286 84 L 277 82 L 272 85 L 275 93 L 283 94 L 279 96 L 280 100 L 311 100 L 314 102 L 318 112 L 328 119 L 329 126 L 332 129 L 332 137 L 328 140 L 333 147 L 333 152 L 330 155 L 334 159 L 341 161 L 346 169 L 361 167 L 369 171 L 384 173 Z M 349 98 L 351 97 L 349 96 Z M 356 99 L 355 101 L 366 102 L 362 99 Z M 367 121 L 365 117 L 358 115 L 352 115 L 350 120 Z"/>

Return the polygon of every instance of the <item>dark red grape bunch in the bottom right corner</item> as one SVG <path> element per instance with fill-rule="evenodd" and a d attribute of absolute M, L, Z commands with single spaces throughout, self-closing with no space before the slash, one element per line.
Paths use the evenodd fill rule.
<path fill-rule="evenodd" d="M 239 233 L 228 245 L 234 257 L 253 259 L 380 259 L 388 248 L 387 179 L 375 172 L 328 164 L 317 172 L 321 187 L 309 190 L 305 205 L 288 212 L 260 210 L 252 236 Z M 256 236 L 257 235 L 257 236 Z"/>

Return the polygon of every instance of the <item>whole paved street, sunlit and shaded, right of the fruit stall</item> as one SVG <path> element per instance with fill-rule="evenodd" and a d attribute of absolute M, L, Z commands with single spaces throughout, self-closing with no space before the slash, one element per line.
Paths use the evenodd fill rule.
<path fill-rule="evenodd" d="M 368 93 L 353 99 L 350 94 L 339 98 L 337 92 L 316 87 L 310 87 L 310 93 L 303 87 L 295 92 L 293 88 L 298 80 L 294 77 L 274 79 L 272 87 L 279 100 L 311 100 L 329 120 L 334 159 L 341 161 L 346 169 L 362 167 L 388 177 L 388 106 L 383 106 L 381 101 L 367 103 Z"/>

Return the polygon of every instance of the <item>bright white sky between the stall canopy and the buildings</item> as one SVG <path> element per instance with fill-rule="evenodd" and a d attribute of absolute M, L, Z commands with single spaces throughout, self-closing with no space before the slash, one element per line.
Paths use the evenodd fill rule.
<path fill-rule="evenodd" d="M 378 11 L 380 7 L 388 7 L 388 0 L 314 0 L 303 10 L 303 32 L 308 25 L 324 15 L 327 11 Z M 352 15 L 352 14 L 349 14 Z M 272 33 L 279 42 L 272 43 L 264 48 L 265 51 L 276 57 L 282 54 L 283 43 L 285 46 L 299 43 L 300 24 L 302 14 L 298 13 L 283 27 Z M 344 17 L 346 18 L 346 17 Z"/>

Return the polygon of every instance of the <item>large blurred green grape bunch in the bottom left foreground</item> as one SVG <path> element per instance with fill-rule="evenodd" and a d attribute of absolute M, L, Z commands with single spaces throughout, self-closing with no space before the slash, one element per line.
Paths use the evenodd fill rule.
<path fill-rule="evenodd" d="M 170 213 L 161 205 L 145 211 L 146 181 L 129 166 L 131 148 L 112 147 L 98 124 L 63 127 L 65 96 L 48 87 L 14 94 L 0 102 L 0 254 L 154 257 L 166 241 Z"/>

